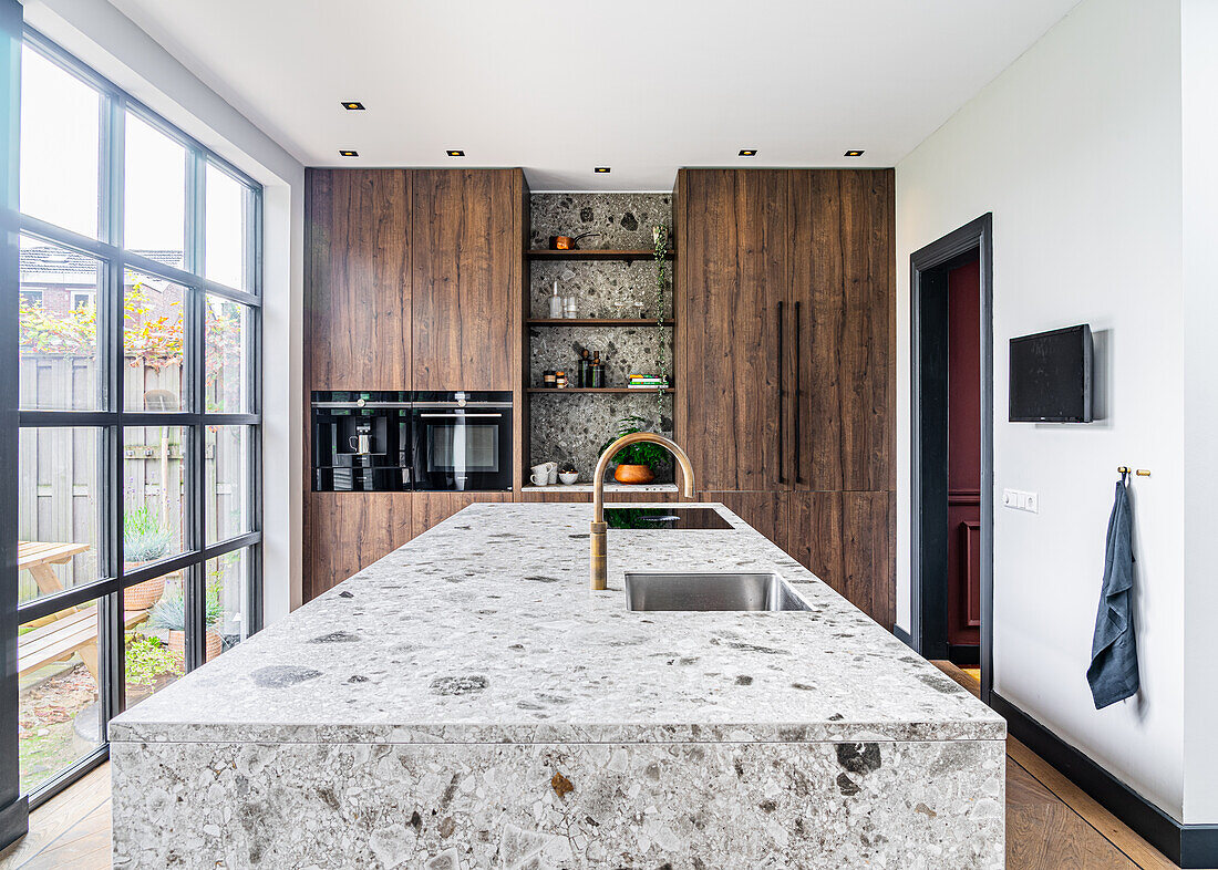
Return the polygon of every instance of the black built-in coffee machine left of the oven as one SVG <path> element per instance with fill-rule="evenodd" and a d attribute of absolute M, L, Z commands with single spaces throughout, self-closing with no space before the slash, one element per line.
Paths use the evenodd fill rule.
<path fill-rule="evenodd" d="M 410 394 L 313 393 L 314 492 L 412 489 Z"/>

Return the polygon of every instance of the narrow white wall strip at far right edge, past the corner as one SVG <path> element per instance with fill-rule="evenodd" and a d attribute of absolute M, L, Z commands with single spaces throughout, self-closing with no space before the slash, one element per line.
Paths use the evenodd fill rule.
<path fill-rule="evenodd" d="M 1184 820 L 1218 821 L 1218 4 L 1181 7 L 1184 130 Z"/>

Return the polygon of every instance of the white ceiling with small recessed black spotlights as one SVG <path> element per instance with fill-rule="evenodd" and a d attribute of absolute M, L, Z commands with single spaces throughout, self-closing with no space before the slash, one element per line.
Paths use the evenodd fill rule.
<path fill-rule="evenodd" d="M 894 165 L 1077 2 L 111 1 L 306 165 L 519 165 L 533 190 Z"/>

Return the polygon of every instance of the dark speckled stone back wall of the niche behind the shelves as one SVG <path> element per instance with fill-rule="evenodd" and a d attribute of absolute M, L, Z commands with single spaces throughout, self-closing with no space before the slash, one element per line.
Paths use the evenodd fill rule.
<path fill-rule="evenodd" d="M 650 249 L 652 226 L 672 225 L 667 193 L 533 193 L 531 247 L 549 247 L 551 236 L 600 235 L 580 240 L 581 249 Z M 664 316 L 672 316 L 671 263 L 664 291 Z M 575 294 L 580 318 L 655 318 L 655 263 L 650 258 L 618 260 L 533 260 L 530 268 L 532 318 L 549 316 L 554 281 L 560 296 Z M 599 350 L 605 386 L 625 387 L 627 376 L 657 370 L 661 330 L 638 326 L 531 326 L 530 386 L 542 385 L 542 372 L 566 371 L 575 377 L 580 352 Z M 663 330 L 664 359 L 672 378 L 672 329 Z M 572 371 L 574 370 L 574 371 Z M 672 434 L 672 397 L 653 392 L 531 393 L 529 397 L 529 464 L 574 462 L 580 482 L 591 481 L 600 445 L 616 432 L 618 421 L 641 416 L 649 428 Z M 671 482 L 672 466 L 657 470 L 657 481 Z"/>

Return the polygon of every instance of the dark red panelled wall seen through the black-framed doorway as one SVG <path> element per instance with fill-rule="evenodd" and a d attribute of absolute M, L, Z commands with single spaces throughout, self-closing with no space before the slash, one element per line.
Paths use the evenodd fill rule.
<path fill-rule="evenodd" d="M 948 275 L 948 641 L 980 640 L 980 263 Z"/>

